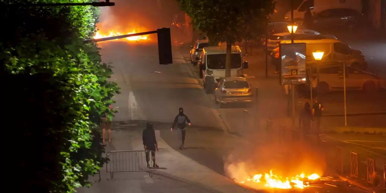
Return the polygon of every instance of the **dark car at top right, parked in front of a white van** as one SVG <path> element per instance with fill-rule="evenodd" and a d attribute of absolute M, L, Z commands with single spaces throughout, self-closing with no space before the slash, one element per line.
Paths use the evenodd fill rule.
<path fill-rule="evenodd" d="M 364 17 L 357 10 L 349 8 L 333 8 L 313 15 L 315 29 L 348 29 L 353 30 L 364 23 Z"/>

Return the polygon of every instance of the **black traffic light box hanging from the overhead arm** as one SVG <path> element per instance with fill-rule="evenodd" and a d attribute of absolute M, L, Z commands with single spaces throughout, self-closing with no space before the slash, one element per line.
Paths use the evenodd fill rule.
<path fill-rule="evenodd" d="M 157 29 L 159 64 L 172 64 L 170 28 Z"/>

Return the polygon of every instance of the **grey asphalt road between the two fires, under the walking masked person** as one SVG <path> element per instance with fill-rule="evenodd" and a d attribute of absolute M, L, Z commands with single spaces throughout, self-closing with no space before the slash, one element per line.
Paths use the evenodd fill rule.
<path fill-rule="evenodd" d="M 183 155 L 223 175 L 224 163 L 229 162 L 230 154 L 240 160 L 259 156 L 256 148 L 262 147 L 263 140 L 260 139 L 264 136 L 255 136 L 256 141 L 250 143 L 223 132 L 213 111 L 217 107 L 213 106 L 212 99 L 205 94 L 187 65 L 181 64 L 183 60 L 178 58 L 178 52 L 174 52 L 174 64 L 159 65 L 154 44 L 104 42 L 100 46 L 103 48 L 102 61 L 112 62 L 114 74 L 111 79 L 118 83 L 122 92 L 114 98 L 117 101 L 114 107 L 119 109 L 114 122 L 130 124 L 130 120 L 151 120 L 155 128 L 161 130 L 164 141 L 180 151 L 177 134 L 169 128 L 178 108 L 183 107 L 192 122 L 186 135 L 186 149 L 180 151 Z M 255 163 L 262 167 L 264 163 L 273 164 L 273 159 L 266 157 L 264 162 Z M 348 185 L 339 185 L 339 188 L 323 185 L 323 188 L 307 188 L 306 191 L 328 192 L 334 188 L 357 191 L 356 187 Z"/>

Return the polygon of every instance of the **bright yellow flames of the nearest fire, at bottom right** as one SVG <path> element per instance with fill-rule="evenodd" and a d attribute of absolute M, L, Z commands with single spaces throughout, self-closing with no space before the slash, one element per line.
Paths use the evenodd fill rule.
<path fill-rule="evenodd" d="M 296 175 L 295 177 L 283 178 L 281 176 L 274 175 L 272 170 L 269 171 L 269 174 L 265 173 L 264 178 L 262 174 L 256 174 L 252 178 L 248 177 L 246 181 L 240 183 L 265 183 L 264 186 L 268 188 L 280 188 L 280 189 L 290 189 L 290 188 L 305 188 L 308 185 L 308 182 L 318 179 L 320 176 L 318 174 L 311 174 L 305 176 L 304 173 Z M 263 179 L 262 179 L 263 178 Z M 246 184 L 247 185 L 247 184 Z"/>

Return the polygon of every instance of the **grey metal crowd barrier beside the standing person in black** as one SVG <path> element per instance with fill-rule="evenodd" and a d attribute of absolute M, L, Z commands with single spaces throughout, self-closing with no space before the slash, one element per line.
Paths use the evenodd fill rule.
<path fill-rule="evenodd" d="M 110 159 L 106 166 L 106 172 L 110 173 L 111 178 L 114 178 L 115 172 L 148 172 L 150 178 L 153 176 L 153 171 L 156 170 L 155 159 L 153 162 L 154 151 L 109 151 L 106 157 Z M 149 164 L 146 162 L 146 157 L 149 159 Z M 150 167 L 148 167 L 150 166 Z"/>

